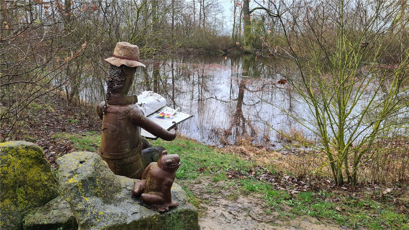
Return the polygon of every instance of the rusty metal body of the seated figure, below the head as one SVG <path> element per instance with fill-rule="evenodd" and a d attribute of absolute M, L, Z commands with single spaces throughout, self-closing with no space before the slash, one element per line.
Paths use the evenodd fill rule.
<path fill-rule="evenodd" d="M 117 175 L 140 179 L 149 163 L 157 161 L 164 147 L 151 144 L 141 137 L 141 127 L 165 140 L 173 140 L 175 134 L 147 119 L 135 103 L 136 95 L 108 96 L 105 114 L 102 110 L 105 101 L 97 106 L 102 118 L 101 145 L 99 155 Z"/>

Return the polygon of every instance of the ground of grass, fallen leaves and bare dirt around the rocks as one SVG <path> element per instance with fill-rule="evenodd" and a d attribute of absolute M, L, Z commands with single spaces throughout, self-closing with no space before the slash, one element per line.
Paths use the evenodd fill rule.
<path fill-rule="evenodd" d="M 80 112 L 57 102 L 27 118 L 10 140 L 37 143 L 55 169 L 58 156 L 96 152 L 101 122 L 92 114 L 91 109 Z M 180 155 L 176 183 L 198 208 L 204 230 L 409 229 L 407 191 L 393 197 L 371 184 L 337 188 L 327 178 L 274 172 L 247 156 L 183 137 L 152 143 Z"/>

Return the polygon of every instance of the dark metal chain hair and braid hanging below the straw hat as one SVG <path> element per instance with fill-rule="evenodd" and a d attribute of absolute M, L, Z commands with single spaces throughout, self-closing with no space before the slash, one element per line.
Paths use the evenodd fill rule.
<path fill-rule="evenodd" d="M 119 92 L 124 89 L 125 74 L 121 67 L 111 65 L 108 68 L 108 89 L 106 90 L 105 105 L 102 108 L 102 115 L 105 115 L 105 109 L 108 106 L 108 96 L 111 92 Z"/>

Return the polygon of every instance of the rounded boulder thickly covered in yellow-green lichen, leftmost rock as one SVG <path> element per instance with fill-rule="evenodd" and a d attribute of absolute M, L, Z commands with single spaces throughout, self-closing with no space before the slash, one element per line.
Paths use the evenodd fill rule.
<path fill-rule="evenodd" d="M 0 228 L 21 229 L 27 212 L 58 196 L 58 183 L 36 144 L 0 143 L 0 158 Z"/>

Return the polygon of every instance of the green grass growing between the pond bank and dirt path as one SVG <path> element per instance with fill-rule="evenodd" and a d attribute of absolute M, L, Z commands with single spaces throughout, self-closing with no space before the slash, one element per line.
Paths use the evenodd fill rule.
<path fill-rule="evenodd" d="M 53 138 L 70 140 L 77 150 L 95 152 L 91 143 L 99 145 L 100 136 L 94 132 L 79 134 L 55 134 Z M 212 147 L 189 141 L 176 139 L 171 142 L 152 141 L 152 145 L 163 145 L 169 154 L 179 154 L 181 163 L 176 173 L 177 183 L 182 185 L 191 203 L 200 208 L 201 203 L 209 200 L 200 199 L 191 190 L 192 184 L 202 184 L 200 194 L 218 194 L 221 190 L 231 191 L 225 194 L 225 199 L 234 202 L 241 195 L 253 196 L 263 199 L 261 203 L 266 207 L 264 212 L 279 213 L 283 219 L 297 218 L 299 216 L 315 217 L 323 221 L 334 221 L 338 225 L 345 225 L 351 229 L 361 226 L 368 229 L 409 229 L 408 217 L 398 213 L 393 205 L 387 202 L 373 201 L 370 197 L 353 199 L 342 197 L 332 192 L 299 192 L 291 194 L 285 190 L 275 190 L 270 183 L 257 181 L 253 178 L 228 179 L 229 170 L 245 174 L 254 170 L 254 163 L 240 159 L 234 154 L 218 152 Z M 206 183 L 203 183 L 206 181 Z M 216 186 L 217 185 L 217 186 Z M 197 194 L 197 190 L 195 191 Z M 325 201 L 328 198 L 339 198 L 337 202 Z"/>

